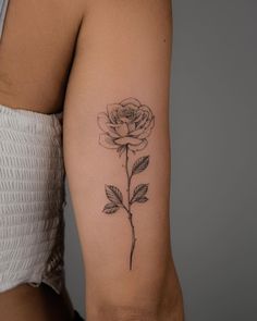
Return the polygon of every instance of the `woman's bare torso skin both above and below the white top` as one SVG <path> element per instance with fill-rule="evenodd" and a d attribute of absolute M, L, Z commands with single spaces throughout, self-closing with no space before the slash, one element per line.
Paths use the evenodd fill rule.
<path fill-rule="evenodd" d="M 0 104 L 51 114 L 62 111 L 83 1 L 10 0 L 0 42 Z M 64 289 L 21 284 L 0 293 L 1 320 L 72 320 Z"/>

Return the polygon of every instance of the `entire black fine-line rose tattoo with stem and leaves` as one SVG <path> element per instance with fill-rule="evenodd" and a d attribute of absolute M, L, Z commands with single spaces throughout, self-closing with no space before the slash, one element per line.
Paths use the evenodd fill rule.
<path fill-rule="evenodd" d="M 100 112 L 97 123 L 103 132 L 99 135 L 99 144 L 106 148 L 115 149 L 119 157 L 125 155 L 126 194 L 127 201 L 124 201 L 121 190 L 113 185 L 106 185 L 106 196 L 108 202 L 102 212 L 113 214 L 120 208 L 124 209 L 130 221 L 132 231 L 132 244 L 130 252 L 130 270 L 132 270 L 133 254 L 136 245 L 135 226 L 133 222 L 132 205 L 134 202 L 146 202 L 149 184 L 137 185 L 131 193 L 132 177 L 143 172 L 149 164 L 149 156 L 138 158 L 133 165 L 130 165 L 130 153 L 135 155 L 143 150 L 148 141 L 155 126 L 155 116 L 150 108 L 142 104 L 138 99 L 126 98 L 119 103 L 107 106 L 107 112 Z"/>

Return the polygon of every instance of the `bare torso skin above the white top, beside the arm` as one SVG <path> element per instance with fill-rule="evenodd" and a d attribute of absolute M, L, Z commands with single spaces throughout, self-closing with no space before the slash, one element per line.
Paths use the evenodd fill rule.
<path fill-rule="evenodd" d="M 0 42 L 0 103 L 42 113 L 62 110 L 81 2 L 10 0 Z"/>

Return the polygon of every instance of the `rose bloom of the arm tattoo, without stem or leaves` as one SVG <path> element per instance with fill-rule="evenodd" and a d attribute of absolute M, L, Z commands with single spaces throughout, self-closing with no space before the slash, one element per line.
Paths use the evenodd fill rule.
<path fill-rule="evenodd" d="M 97 121 L 103 132 L 99 136 L 99 144 L 117 149 L 120 155 L 126 148 L 134 152 L 144 149 L 147 146 L 146 138 L 155 125 L 149 107 L 135 98 L 108 104 L 107 112 L 100 112 Z"/>

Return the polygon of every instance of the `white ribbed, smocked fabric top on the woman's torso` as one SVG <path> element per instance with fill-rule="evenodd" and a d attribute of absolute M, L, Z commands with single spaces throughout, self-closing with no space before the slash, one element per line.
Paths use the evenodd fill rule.
<path fill-rule="evenodd" d="M 0 292 L 64 284 L 62 112 L 0 104 Z"/>

